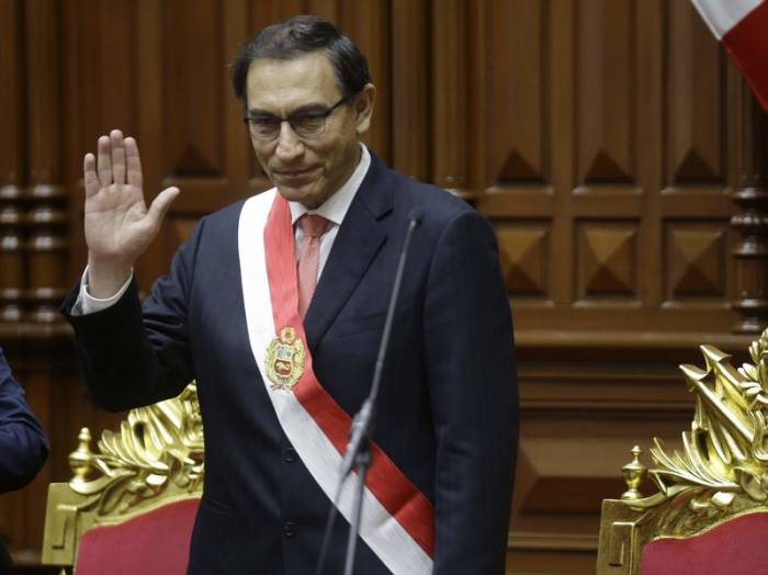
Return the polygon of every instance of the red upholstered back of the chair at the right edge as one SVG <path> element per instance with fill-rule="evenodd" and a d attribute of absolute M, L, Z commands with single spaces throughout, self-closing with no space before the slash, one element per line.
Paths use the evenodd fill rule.
<path fill-rule="evenodd" d="M 768 512 L 731 519 L 700 535 L 643 548 L 642 575 L 738 575 L 768 572 Z"/>

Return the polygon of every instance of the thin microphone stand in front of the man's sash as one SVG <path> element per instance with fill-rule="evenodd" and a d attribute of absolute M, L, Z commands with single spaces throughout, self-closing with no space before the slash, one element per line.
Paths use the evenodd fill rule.
<path fill-rule="evenodd" d="M 362 407 L 352 419 L 352 427 L 349 430 L 349 443 L 347 444 L 347 451 L 345 452 L 343 460 L 341 462 L 341 473 L 339 475 L 339 485 L 336 492 L 336 498 L 331 505 L 330 514 L 328 516 L 328 523 L 326 525 L 326 533 L 323 538 L 323 549 L 320 551 L 320 560 L 317 565 L 317 575 L 323 573 L 323 567 L 325 565 L 325 560 L 328 553 L 328 545 L 330 543 L 330 533 L 334 527 L 334 519 L 336 517 L 336 508 L 338 505 L 339 496 L 341 495 L 341 487 L 347 480 L 347 477 L 357 470 L 358 483 L 354 492 L 354 501 L 352 506 L 352 520 L 350 521 L 349 539 L 347 540 L 347 555 L 345 559 L 345 575 L 352 575 L 352 570 L 354 567 L 354 551 L 358 543 L 358 535 L 360 534 L 360 518 L 362 516 L 363 508 L 363 493 L 365 491 L 365 476 L 368 475 L 368 470 L 371 466 L 371 436 L 373 435 L 373 424 L 376 415 L 376 398 L 379 397 L 379 387 L 381 386 L 382 371 L 384 369 L 384 359 L 386 358 L 386 350 L 389 345 L 389 337 L 392 331 L 392 322 L 395 317 L 395 308 L 397 306 L 397 300 L 400 293 L 400 284 L 403 283 L 403 272 L 405 270 L 405 261 L 408 255 L 408 247 L 410 246 L 410 238 L 414 234 L 414 229 L 419 225 L 421 221 L 421 213 L 418 208 L 411 210 L 408 214 L 408 229 L 405 235 L 405 241 L 403 243 L 403 250 L 400 251 L 400 258 L 397 262 L 397 271 L 395 273 L 395 283 L 392 286 L 392 296 L 389 297 L 389 307 L 386 312 L 386 319 L 384 320 L 384 332 L 382 334 L 382 341 L 379 347 L 379 356 L 376 358 L 376 365 L 373 371 L 373 383 L 371 384 L 371 392 L 368 398 L 363 402 Z"/>

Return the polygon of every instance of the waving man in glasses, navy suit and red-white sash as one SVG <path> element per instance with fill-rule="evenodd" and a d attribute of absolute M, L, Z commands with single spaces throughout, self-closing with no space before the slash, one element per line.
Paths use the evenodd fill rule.
<path fill-rule="evenodd" d="M 418 208 L 355 568 L 502 573 L 517 383 L 490 226 L 360 143 L 375 88 L 328 22 L 264 29 L 233 78 L 275 189 L 204 217 L 143 308 L 131 270 L 179 190 L 147 210 L 136 143 L 118 131 L 84 158 L 89 266 L 65 312 L 93 396 L 126 409 L 196 379 L 206 461 L 190 573 L 314 573 Z M 343 566 L 348 529 L 336 522 L 327 573 Z"/>

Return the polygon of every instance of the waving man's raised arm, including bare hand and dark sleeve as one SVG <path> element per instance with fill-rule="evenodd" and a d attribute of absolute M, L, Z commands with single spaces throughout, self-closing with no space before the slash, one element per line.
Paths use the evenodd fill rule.
<path fill-rule="evenodd" d="M 163 190 L 147 207 L 138 147 L 116 129 L 99 138 L 97 156 L 86 155 L 83 179 L 88 294 L 111 305 L 82 314 L 78 286 L 61 312 L 75 328 L 89 390 L 111 410 L 167 399 L 192 379 L 187 342 L 190 250 L 182 247 L 171 273 L 156 283 L 154 315 L 145 318 L 131 270 L 179 190 Z"/>

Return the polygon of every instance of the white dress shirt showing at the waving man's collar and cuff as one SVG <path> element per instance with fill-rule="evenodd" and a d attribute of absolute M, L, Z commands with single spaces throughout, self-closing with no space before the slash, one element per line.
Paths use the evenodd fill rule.
<path fill-rule="evenodd" d="M 325 267 L 326 261 L 328 261 L 328 255 L 330 253 L 330 248 L 334 247 L 336 235 L 339 233 L 339 226 L 341 225 L 341 222 L 343 222 L 347 211 L 352 204 L 354 194 L 358 193 L 360 184 L 368 173 L 368 169 L 371 167 L 371 154 L 363 144 L 360 144 L 360 161 L 358 162 L 357 168 L 354 168 L 352 176 L 350 176 L 345 184 L 319 207 L 308 210 L 298 202 L 289 202 L 291 207 L 291 223 L 294 225 L 296 257 L 298 257 L 304 249 L 304 234 L 302 228 L 295 225 L 296 221 L 304 214 L 319 214 L 329 222 L 325 233 L 320 236 L 320 261 L 317 269 L 318 280 L 323 273 L 323 268 Z M 78 294 L 78 298 L 72 306 L 72 315 L 93 314 L 114 305 L 126 292 L 128 285 L 131 285 L 131 280 L 133 280 L 133 277 L 134 272 L 131 270 L 131 275 L 128 277 L 127 281 L 113 296 L 106 298 L 93 297 L 90 293 L 88 293 L 88 267 L 86 267 L 86 270 L 82 272 L 82 279 L 80 280 L 80 293 Z"/>

